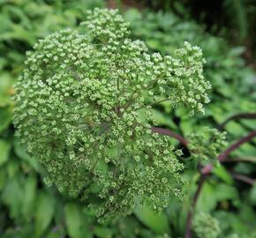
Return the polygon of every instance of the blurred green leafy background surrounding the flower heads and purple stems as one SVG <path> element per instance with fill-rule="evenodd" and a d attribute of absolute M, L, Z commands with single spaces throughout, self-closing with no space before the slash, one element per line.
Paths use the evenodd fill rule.
<path fill-rule="evenodd" d="M 254 0 L 0 0 L 0 237 L 184 237 L 190 197 L 200 172 L 188 164 L 190 180 L 182 203 L 170 199 L 157 215 L 136 209 L 125 219 L 98 224 L 79 201 L 43 183 L 44 169 L 14 137 L 11 95 L 35 41 L 65 27 L 76 27 L 94 7 L 119 8 L 131 22 L 134 38 L 151 51 L 169 54 L 184 41 L 200 46 L 207 60 L 205 77 L 213 86 L 205 115 L 189 117 L 168 102 L 154 107 L 162 128 L 185 137 L 202 126 L 218 128 L 232 115 L 256 113 L 256 3 Z M 254 70 L 253 70 L 254 69 Z M 226 124 L 228 144 L 256 130 L 256 120 Z M 207 178 L 196 206 L 218 220 L 217 237 L 256 237 L 256 139 L 230 154 Z M 177 145 L 180 146 L 180 145 Z M 244 178 L 241 179 L 241 178 Z M 202 236 L 194 225 L 192 237 Z"/>

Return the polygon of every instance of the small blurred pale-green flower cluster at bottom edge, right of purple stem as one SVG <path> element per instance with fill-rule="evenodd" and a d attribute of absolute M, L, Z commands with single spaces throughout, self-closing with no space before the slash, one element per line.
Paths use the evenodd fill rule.
<path fill-rule="evenodd" d="M 222 232 L 219 221 L 203 212 L 193 219 L 193 231 L 199 238 L 217 238 Z"/>

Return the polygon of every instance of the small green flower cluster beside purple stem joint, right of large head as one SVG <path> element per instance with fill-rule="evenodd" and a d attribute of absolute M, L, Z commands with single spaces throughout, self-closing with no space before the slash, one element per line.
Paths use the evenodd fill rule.
<path fill-rule="evenodd" d="M 192 158 L 197 161 L 212 160 L 216 162 L 222 147 L 227 145 L 226 132 L 220 132 L 216 129 L 204 128 L 200 132 L 190 134 L 189 149 L 192 152 Z"/>

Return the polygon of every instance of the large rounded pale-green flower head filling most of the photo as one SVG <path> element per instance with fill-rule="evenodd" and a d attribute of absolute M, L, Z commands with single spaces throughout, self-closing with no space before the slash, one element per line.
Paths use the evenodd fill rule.
<path fill-rule="evenodd" d="M 79 31 L 53 33 L 27 53 L 14 124 L 58 190 L 102 219 L 135 205 L 161 211 L 182 196 L 183 165 L 169 138 L 152 133 L 150 108 L 170 100 L 203 112 L 209 83 L 200 48 L 147 54 L 114 10 L 88 12 Z"/>

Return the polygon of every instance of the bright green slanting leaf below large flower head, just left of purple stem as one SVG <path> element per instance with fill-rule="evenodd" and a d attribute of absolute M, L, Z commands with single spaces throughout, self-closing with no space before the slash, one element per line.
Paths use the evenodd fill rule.
<path fill-rule="evenodd" d="M 156 234 L 169 233 L 169 220 L 164 213 L 157 214 L 148 207 L 134 211 L 137 218 Z"/>

